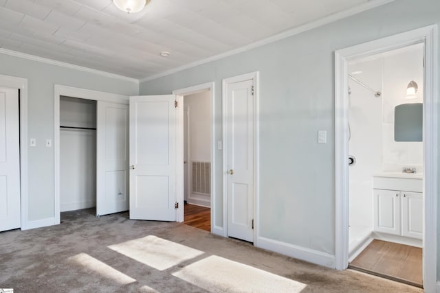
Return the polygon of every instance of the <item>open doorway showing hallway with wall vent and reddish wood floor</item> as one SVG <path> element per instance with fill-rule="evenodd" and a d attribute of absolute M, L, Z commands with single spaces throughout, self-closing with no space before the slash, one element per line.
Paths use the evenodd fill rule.
<path fill-rule="evenodd" d="M 211 92 L 184 95 L 184 223 L 211 231 Z"/>

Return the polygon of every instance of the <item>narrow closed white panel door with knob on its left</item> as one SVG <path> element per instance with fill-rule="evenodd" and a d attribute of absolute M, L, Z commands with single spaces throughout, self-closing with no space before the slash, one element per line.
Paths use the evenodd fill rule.
<path fill-rule="evenodd" d="M 228 235 L 254 242 L 253 80 L 228 84 Z"/>

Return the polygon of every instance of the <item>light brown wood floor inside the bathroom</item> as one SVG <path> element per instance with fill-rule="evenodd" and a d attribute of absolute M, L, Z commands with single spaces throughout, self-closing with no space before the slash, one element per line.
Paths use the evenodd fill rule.
<path fill-rule="evenodd" d="M 422 249 L 374 239 L 349 268 L 422 287 Z"/>

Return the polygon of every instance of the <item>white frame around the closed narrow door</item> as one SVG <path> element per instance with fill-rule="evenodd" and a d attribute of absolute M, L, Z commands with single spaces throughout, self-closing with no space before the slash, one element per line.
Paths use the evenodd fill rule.
<path fill-rule="evenodd" d="M 245 80 L 254 80 L 254 246 L 258 245 L 259 239 L 259 71 L 246 73 L 243 75 L 225 78 L 222 81 L 222 126 L 223 126 L 223 233 L 228 237 L 228 113 L 226 113 L 226 95 L 228 95 L 228 85 Z"/>

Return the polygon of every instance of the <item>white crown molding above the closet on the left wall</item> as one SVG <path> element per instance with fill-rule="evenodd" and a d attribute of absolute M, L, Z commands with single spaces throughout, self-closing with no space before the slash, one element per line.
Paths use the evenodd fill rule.
<path fill-rule="evenodd" d="M 21 53 L 19 51 L 12 51 L 12 50 L 5 49 L 5 48 L 0 48 L 0 54 L 5 54 L 5 55 L 9 55 L 9 56 L 18 57 L 18 58 L 33 60 L 33 61 L 42 62 L 42 63 L 46 63 L 46 64 L 50 64 L 50 65 L 56 65 L 56 66 L 65 67 L 65 68 L 68 68 L 68 69 L 84 71 L 84 72 L 87 72 L 87 73 L 94 73 L 96 75 L 102 75 L 102 76 L 105 76 L 107 78 L 115 78 L 115 79 L 124 80 L 124 81 L 127 81 L 127 82 L 135 82 L 137 84 L 139 83 L 139 80 L 137 80 L 135 78 L 129 78 L 129 77 L 126 77 L 126 76 L 123 76 L 123 75 L 109 73 L 107 71 L 100 71 L 98 69 L 91 69 L 89 67 L 73 65 L 73 64 L 67 63 L 67 62 L 56 61 L 56 60 L 53 60 L 53 59 L 39 57 L 39 56 L 35 56 L 35 55 L 31 55 L 31 54 L 26 54 L 26 53 Z"/>

